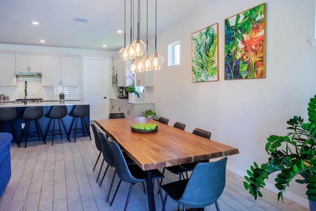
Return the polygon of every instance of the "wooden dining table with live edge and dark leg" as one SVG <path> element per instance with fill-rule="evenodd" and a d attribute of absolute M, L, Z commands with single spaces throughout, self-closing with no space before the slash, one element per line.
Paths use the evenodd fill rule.
<path fill-rule="evenodd" d="M 150 211 L 156 211 L 153 169 L 176 166 L 238 154 L 235 147 L 197 136 L 191 132 L 159 123 L 146 117 L 95 120 L 107 135 L 144 171 L 148 173 L 147 196 Z M 138 133 L 131 130 L 137 123 L 155 123 L 158 130 Z"/>

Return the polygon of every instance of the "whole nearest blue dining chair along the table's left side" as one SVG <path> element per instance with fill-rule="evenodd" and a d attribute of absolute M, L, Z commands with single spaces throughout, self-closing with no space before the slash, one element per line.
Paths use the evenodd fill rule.
<path fill-rule="evenodd" d="M 133 185 L 138 182 L 145 182 L 146 179 L 148 179 L 148 176 L 147 176 L 148 174 L 146 171 L 143 171 L 137 165 L 127 165 L 124 159 L 122 150 L 120 149 L 118 143 L 114 142 L 111 137 L 108 138 L 108 141 L 113 153 L 115 169 L 119 177 L 118 187 L 115 191 L 115 194 L 113 196 L 110 206 L 112 206 L 115 196 L 117 195 L 118 188 L 120 186 L 121 181 L 124 181 L 124 182 L 130 183 L 130 187 L 129 187 L 129 191 L 128 191 L 128 195 L 127 195 L 127 199 L 126 199 L 125 207 L 124 207 L 124 211 L 126 211 Z M 153 173 L 153 181 L 156 179 L 158 182 L 158 188 L 159 188 L 160 198 L 162 202 L 163 198 L 161 194 L 159 179 L 163 178 L 163 174 L 158 169 L 152 170 L 152 173 Z"/>

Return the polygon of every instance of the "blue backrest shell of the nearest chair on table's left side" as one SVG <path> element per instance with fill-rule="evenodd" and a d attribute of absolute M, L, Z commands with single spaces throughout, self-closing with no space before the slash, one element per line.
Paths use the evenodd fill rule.
<path fill-rule="evenodd" d="M 113 153 L 114 166 L 115 166 L 115 169 L 117 170 L 118 177 L 124 182 L 128 182 L 128 183 L 137 183 L 137 182 L 145 181 L 145 179 L 135 178 L 131 174 L 126 164 L 122 150 L 120 149 L 118 143 L 114 142 L 111 137 L 108 138 L 108 142 L 110 144 L 110 147 Z M 134 166 L 134 165 L 130 165 L 130 166 Z"/>

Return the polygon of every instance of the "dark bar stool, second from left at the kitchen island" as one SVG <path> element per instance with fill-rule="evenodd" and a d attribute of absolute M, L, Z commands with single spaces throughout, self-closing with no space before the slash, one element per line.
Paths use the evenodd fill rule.
<path fill-rule="evenodd" d="M 22 129 L 22 134 L 21 134 L 21 137 L 20 137 L 20 144 L 21 144 L 21 141 L 22 141 L 25 129 L 27 129 L 26 140 L 25 140 L 25 148 L 26 148 L 26 144 L 28 142 L 28 138 L 29 137 L 35 137 L 37 135 L 39 137 L 39 141 L 40 141 L 40 136 L 42 136 L 42 135 L 40 133 L 40 126 L 39 126 L 37 120 L 40 119 L 42 116 L 43 116 L 43 109 L 40 106 L 26 107 L 24 109 L 24 112 L 23 112 L 21 118 L 26 120 L 26 123 L 25 123 L 24 128 Z M 29 135 L 29 129 L 30 129 L 31 121 L 34 121 L 37 132 L 32 134 L 32 135 Z M 43 141 L 44 141 L 44 144 L 46 144 L 45 139 L 43 139 Z"/>

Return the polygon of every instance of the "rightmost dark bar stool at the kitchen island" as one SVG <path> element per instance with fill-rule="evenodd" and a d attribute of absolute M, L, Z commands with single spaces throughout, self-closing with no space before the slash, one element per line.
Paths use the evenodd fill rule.
<path fill-rule="evenodd" d="M 84 119 L 83 119 L 83 117 L 89 115 L 89 106 L 88 105 L 75 105 L 72 113 L 70 113 L 68 115 L 73 117 L 73 121 L 70 125 L 68 136 L 70 137 L 70 134 L 72 134 L 71 132 L 74 131 L 73 133 L 75 133 L 75 143 L 76 143 L 76 136 L 78 133 L 83 133 L 83 137 L 85 137 L 85 131 L 84 131 L 84 127 L 85 127 L 86 133 L 88 133 L 90 140 L 92 140 L 91 136 L 90 136 L 90 130 L 88 129 L 88 127 L 85 124 Z M 82 127 L 81 129 L 77 127 L 78 126 L 78 118 L 81 120 L 81 127 Z M 76 120 L 76 128 L 73 129 L 75 120 Z"/>

